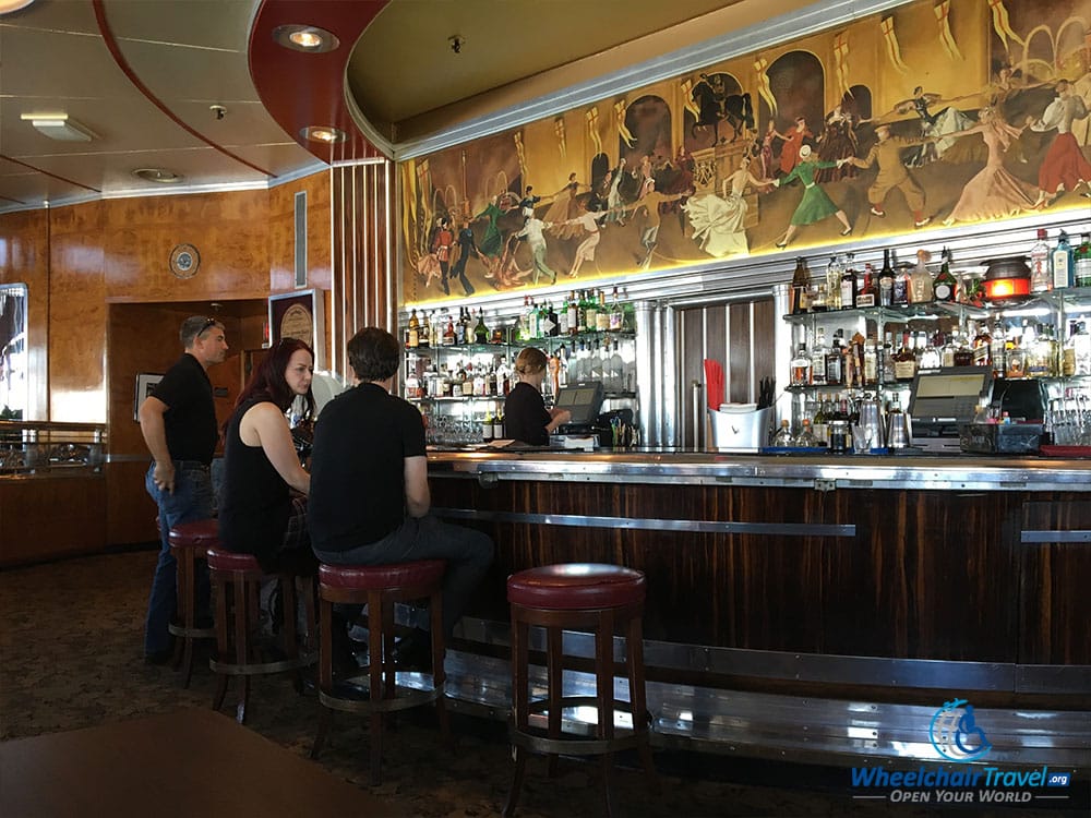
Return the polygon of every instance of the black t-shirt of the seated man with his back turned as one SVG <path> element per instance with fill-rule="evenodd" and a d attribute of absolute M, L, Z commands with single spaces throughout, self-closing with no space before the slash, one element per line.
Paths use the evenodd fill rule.
<path fill-rule="evenodd" d="M 424 456 L 420 411 L 360 384 L 326 404 L 314 425 L 308 524 L 315 551 L 382 540 L 406 518 L 405 458 Z"/>

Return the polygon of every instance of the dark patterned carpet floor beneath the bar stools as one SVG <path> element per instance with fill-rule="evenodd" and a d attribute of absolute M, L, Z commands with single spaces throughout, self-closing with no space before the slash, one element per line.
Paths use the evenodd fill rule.
<path fill-rule="evenodd" d="M 189 689 L 181 687 L 169 666 L 143 664 L 143 616 L 154 563 L 153 552 L 140 551 L 0 572 L 0 739 L 209 706 L 214 676 L 206 664 L 194 672 Z M 248 726 L 305 757 L 317 712 L 316 698 L 297 696 L 287 677 L 257 677 Z M 226 713 L 225 718 L 230 718 Z M 315 763 L 413 816 L 499 815 L 512 769 L 503 724 L 455 715 L 458 748 L 449 753 L 437 741 L 431 713 L 403 718 L 397 733 L 384 743 L 384 783 L 369 787 L 364 722 L 336 714 L 329 743 Z M 656 760 L 662 773 L 658 797 L 648 794 L 638 768 L 620 771 L 618 793 L 624 815 L 916 818 L 939 814 L 910 805 L 853 803 L 844 785 L 836 783 L 843 781 L 843 773 L 825 777 L 813 769 L 662 750 L 657 750 Z M 565 761 L 553 780 L 546 772 L 544 759 L 531 760 L 519 816 L 602 814 L 592 765 Z M 1002 815 L 1031 818 L 1058 813 L 1004 810 Z"/>

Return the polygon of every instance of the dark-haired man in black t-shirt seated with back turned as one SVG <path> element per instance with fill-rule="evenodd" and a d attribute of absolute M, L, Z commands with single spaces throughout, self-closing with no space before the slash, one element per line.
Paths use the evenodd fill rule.
<path fill-rule="evenodd" d="M 492 563 L 492 540 L 429 515 L 424 424 L 415 406 L 391 395 L 401 361 L 397 339 L 377 327 L 361 329 L 348 342 L 348 361 L 353 387 L 323 408 L 314 428 L 311 545 L 333 565 L 445 560 L 443 629 L 449 638 Z M 407 666 L 427 664 L 428 635 L 406 639 L 399 659 Z"/>

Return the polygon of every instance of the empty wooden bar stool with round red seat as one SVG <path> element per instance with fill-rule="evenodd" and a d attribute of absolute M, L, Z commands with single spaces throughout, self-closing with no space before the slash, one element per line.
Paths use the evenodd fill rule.
<path fill-rule="evenodd" d="M 613 754 L 635 747 L 652 792 L 659 780 L 651 761 L 649 722 L 644 681 L 644 634 L 640 617 L 646 594 L 642 572 L 616 565 L 575 563 L 548 565 L 514 574 L 507 579 L 512 606 L 512 719 L 509 735 L 515 750 L 515 775 L 504 805 L 511 816 L 518 805 L 529 753 L 548 755 L 550 775 L 556 773 L 558 755 L 601 756 L 607 814 L 613 815 Z M 531 700 L 529 677 L 529 629 L 546 629 L 547 696 Z M 563 631 L 583 630 L 595 636 L 595 696 L 564 695 L 565 653 Z M 628 701 L 614 699 L 613 636 L 625 637 Z M 570 688 L 571 689 L 571 688 Z M 564 730 L 565 710 L 594 707 L 598 711 L 592 736 Z M 618 712 L 632 715 L 632 729 L 614 724 Z M 531 726 L 546 713 L 541 726 Z"/>

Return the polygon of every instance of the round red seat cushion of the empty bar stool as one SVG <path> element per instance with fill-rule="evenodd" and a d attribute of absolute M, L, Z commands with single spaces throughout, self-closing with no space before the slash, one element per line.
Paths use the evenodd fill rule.
<path fill-rule="evenodd" d="M 574 611 L 644 602 L 644 574 L 620 565 L 543 565 L 507 579 L 507 601 L 524 608 Z"/>

